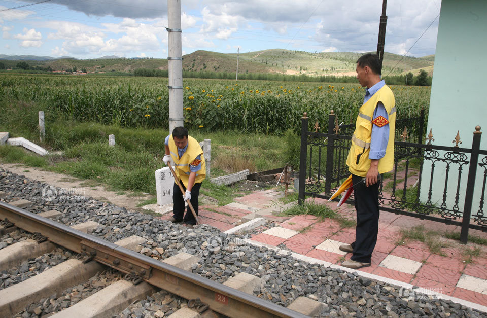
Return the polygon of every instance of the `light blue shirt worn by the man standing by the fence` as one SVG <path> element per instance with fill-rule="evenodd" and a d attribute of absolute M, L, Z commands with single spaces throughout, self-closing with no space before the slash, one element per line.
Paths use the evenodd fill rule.
<path fill-rule="evenodd" d="M 365 92 L 364 104 L 379 90 L 386 85 L 384 80 L 368 88 Z M 382 102 L 377 103 L 372 120 L 382 116 L 389 120 L 389 114 Z M 386 155 L 387 143 L 389 142 L 389 124 L 382 127 L 372 124 L 372 139 L 370 141 L 369 159 L 380 159 Z"/>

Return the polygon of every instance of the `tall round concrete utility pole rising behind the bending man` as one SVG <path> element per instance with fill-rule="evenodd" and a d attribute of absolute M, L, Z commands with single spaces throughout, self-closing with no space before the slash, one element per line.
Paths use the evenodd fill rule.
<path fill-rule="evenodd" d="M 181 0 L 167 0 L 169 53 L 169 133 L 183 126 L 183 58 L 181 49 Z"/>

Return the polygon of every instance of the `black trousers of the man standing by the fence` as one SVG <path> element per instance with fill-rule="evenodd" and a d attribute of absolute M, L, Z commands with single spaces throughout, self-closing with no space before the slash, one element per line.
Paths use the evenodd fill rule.
<path fill-rule="evenodd" d="M 355 242 L 352 243 L 354 252 L 351 259 L 370 263 L 379 230 L 379 182 L 366 187 L 365 181 L 362 180 L 363 177 L 352 174 L 357 227 Z"/>

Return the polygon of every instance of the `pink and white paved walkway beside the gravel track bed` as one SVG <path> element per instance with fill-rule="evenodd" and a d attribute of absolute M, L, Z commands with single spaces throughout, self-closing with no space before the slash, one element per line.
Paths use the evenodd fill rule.
<path fill-rule="evenodd" d="M 272 215 L 276 200 L 282 197 L 277 190 L 256 191 L 236 198 L 225 206 L 200 206 L 200 222 L 226 231 L 235 225 L 264 216 L 274 223 L 273 227 L 261 226 L 252 240 L 280 248 L 286 248 L 312 258 L 332 264 L 340 264 L 351 254 L 341 252 L 338 246 L 352 243 L 355 228 L 343 228 L 332 219 L 319 220 L 314 216 L 300 215 L 278 217 Z M 336 207 L 336 202 L 316 199 L 316 203 L 327 204 L 341 216 L 355 219 L 355 209 L 343 204 Z M 269 211 L 270 210 L 270 211 Z M 163 219 L 170 218 L 163 216 Z M 243 220 L 242 220 L 243 218 Z M 270 222 L 267 224 L 269 225 Z M 487 306 L 487 246 L 459 244 L 458 241 L 445 239 L 447 248 L 442 248 L 444 256 L 433 254 L 428 246 L 418 240 L 407 239 L 399 244 L 401 229 L 424 225 L 425 229 L 435 231 L 459 232 L 454 225 L 445 225 L 434 221 L 420 220 L 408 216 L 395 215 L 381 211 L 379 233 L 370 267 L 358 270 L 382 277 L 407 282 L 414 286 L 430 289 L 435 293 L 457 297 L 483 306 Z M 486 232 L 470 230 L 470 235 L 487 238 Z M 466 261 L 466 249 L 479 248 L 480 254 Z"/>

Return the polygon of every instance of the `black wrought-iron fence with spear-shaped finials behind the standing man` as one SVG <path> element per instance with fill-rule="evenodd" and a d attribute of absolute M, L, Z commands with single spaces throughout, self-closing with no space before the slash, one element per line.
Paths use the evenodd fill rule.
<path fill-rule="evenodd" d="M 332 111 L 328 116 L 328 133 L 318 132 L 318 124 L 315 131 L 309 131 L 308 127 L 309 119 L 304 113 L 300 203 L 306 196 L 330 198 L 350 175 L 345 162 L 355 125 L 338 125 Z M 432 145 L 432 131 L 425 144 L 424 129 L 424 110 L 420 117 L 396 120 L 394 169 L 381 175 L 379 209 L 461 226 L 460 240 L 466 243 L 469 229 L 487 231 L 487 216 L 483 213 L 487 150 L 480 150 L 480 127 L 475 127 L 471 149 L 458 146 L 461 144 L 458 134 L 453 147 Z M 483 169 L 483 180 L 476 181 L 478 167 Z M 476 182 L 481 185 L 477 192 L 479 188 L 481 191 L 477 195 L 479 200 L 474 202 Z M 346 203 L 353 204 L 353 196 Z"/>

